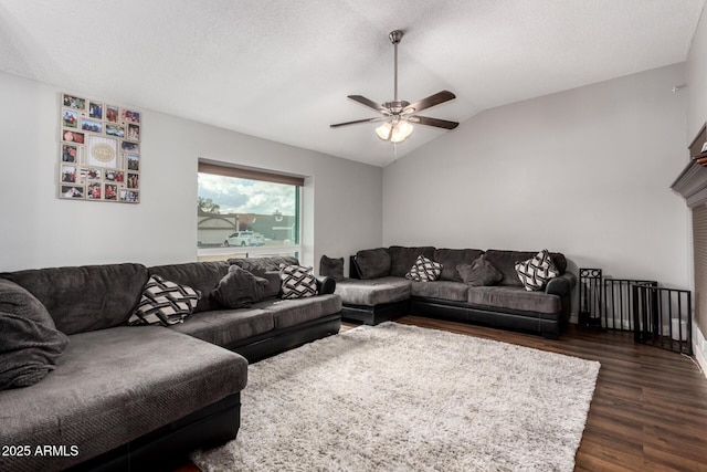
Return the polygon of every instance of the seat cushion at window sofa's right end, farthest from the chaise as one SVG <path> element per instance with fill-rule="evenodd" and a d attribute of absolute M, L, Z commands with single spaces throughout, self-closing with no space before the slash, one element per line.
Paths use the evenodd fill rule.
<path fill-rule="evenodd" d="M 275 328 L 282 329 L 339 313 L 341 298 L 338 295 L 319 295 L 299 300 L 270 300 L 258 302 L 253 307 L 272 313 Z"/>

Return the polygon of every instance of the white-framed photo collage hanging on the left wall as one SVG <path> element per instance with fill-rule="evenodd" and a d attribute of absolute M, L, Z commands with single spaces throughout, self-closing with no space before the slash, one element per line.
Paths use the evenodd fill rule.
<path fill-rule="evenodd" d="M 62 94 L 59 198 L 140 202 L 143 113 Z"/>

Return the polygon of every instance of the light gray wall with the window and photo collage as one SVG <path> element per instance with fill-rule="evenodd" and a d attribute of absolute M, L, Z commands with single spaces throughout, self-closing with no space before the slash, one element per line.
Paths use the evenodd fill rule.
<path fill-rule="evenodd" d="M 60 200 L 61 92 L 81 94 L 0 73 L 1 271 L 194 261 L 200 157 L 306 177 L 304 263 L 318 269 L 321 254 L 347 256 L 381 243 L 382 169 L 147 109 L 141 202 Z"/>

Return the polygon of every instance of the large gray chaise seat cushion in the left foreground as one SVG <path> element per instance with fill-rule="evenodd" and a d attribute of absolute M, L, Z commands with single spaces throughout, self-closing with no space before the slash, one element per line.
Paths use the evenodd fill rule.
<path fill-rule="evenodd" d="M 0 458 L 2 470 L 67 469 L 245 387 L 238 354 L 161 326 L 71 336 L 41 382 L 0 395 L 0 444 L 76 445 L 78 455 Z"/>

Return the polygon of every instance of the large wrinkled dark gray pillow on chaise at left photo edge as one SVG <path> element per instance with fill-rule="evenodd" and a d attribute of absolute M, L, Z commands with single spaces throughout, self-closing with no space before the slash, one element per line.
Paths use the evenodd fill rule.
<path fill-rule="evenodd" d="M 30 292 L 0 280 L 0 390 L 29 387 L 54 370 L 68 338 Z"/>

